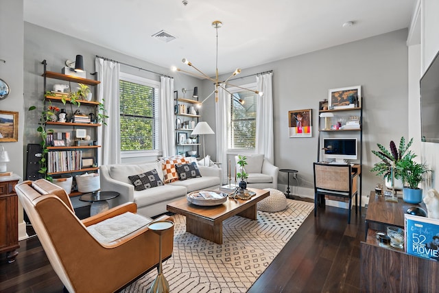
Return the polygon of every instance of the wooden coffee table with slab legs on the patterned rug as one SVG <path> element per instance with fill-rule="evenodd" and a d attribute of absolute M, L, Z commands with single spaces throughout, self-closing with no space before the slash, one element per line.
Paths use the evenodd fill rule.
<path fill-rule="evenodd" d="M 202 207 L 191 204 L 186 198 L 167 204 L 166 209 L 172 213 L 185 215 L 186 231 L 193 235 L 222 244 L 222 222 L 234 215 L 257 220 L 256 204 L 270 195 L 270 191 L 248 188 L 256 192 L 250 200 L 228 198 L 223 204 Z"/>

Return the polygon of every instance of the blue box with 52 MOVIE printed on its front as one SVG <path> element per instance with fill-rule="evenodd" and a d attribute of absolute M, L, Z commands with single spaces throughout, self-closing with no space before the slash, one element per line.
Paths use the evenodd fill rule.
<path fill-rule="evenodd" d="M 404 217 L 406 252 L 439 261 L 439 220 L 409 214 Z"/>

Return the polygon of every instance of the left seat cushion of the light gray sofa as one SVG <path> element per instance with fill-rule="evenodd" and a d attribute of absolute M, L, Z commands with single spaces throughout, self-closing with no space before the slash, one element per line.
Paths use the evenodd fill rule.
<path fill-rule="evenodd" d="M 165 184 L 157 188 L 134 191 L 134 202 L 138 207 L 145 207 L 150 204 L 156 204 L 157 202 L 178 199 L 182 196 L 186 196 L 186 194 L 187 189 L 184 186 Z"/>

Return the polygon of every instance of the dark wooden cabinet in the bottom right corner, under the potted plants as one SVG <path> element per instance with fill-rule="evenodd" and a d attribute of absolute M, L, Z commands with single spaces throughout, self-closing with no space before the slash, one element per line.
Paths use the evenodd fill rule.
<path fill-rule="evenodd" d="M 438 292 L 438 261 L 408 255 L 404 249 L 381 247 L 377 241 L 377 230 L 404 227 L 404 213 L 412 206 L 401 198 L 386 202 L 370 192 L 366 241 L 360 244 L 361 292 Z"/>

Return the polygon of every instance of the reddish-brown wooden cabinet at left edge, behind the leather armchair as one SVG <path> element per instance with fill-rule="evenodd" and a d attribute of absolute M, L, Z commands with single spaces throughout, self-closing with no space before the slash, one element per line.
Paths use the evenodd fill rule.
<path fill-rule="evenodd" d="M 0 177 L 0 253 L 7 253 L 9 263 L 19 254 L 19 200 L 14 186 L 19 176 Z"/>

